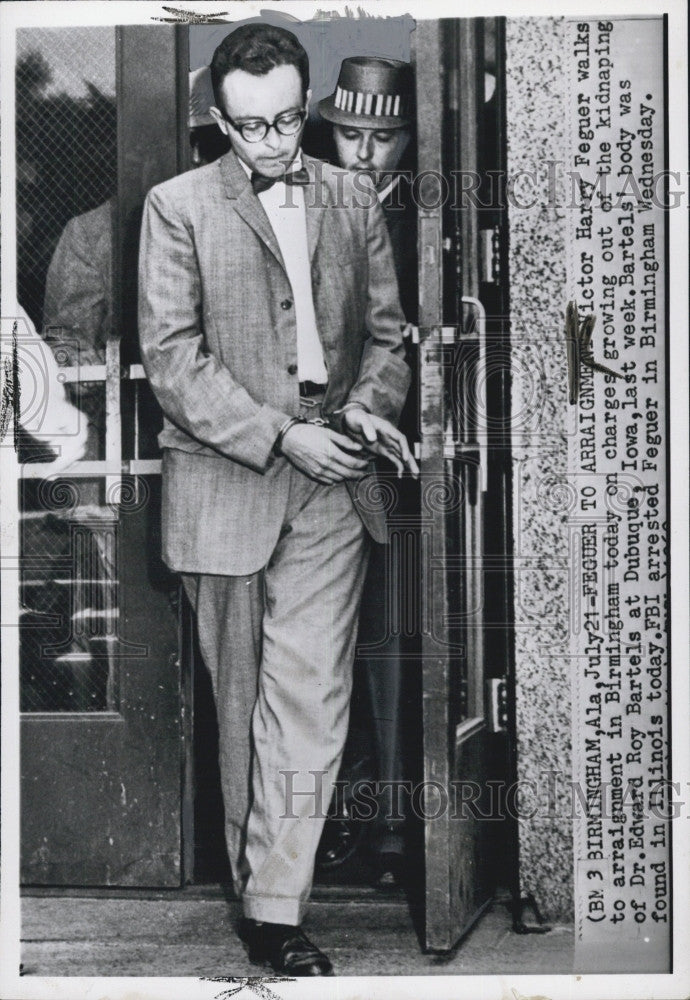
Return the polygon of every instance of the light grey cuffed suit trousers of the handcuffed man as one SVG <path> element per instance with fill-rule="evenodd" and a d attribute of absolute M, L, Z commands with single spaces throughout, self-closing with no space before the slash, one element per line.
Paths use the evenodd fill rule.
<path fill-rule="evenodd" d="M 299 924 L 347 736 L 369 537 L 344 483 L 285 475 L 268 564 L 183 581 L 218 714 L 235 891 L 245 916 Z"/>

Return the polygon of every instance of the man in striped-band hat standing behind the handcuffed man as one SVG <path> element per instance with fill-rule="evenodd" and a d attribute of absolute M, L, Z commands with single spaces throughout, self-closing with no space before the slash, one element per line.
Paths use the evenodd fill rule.
<path fill-rule="evenodd" d="M 410 323 L 417 321 L 417 210 L 412 197 L 414 157 L 411 149 L 414 81 L 409 63 L 373 56 L 343 60 L 335 93 L 320 101 L 321 116 L 332 123 L 335 160 L 348 170 L 368 174 L 383 208 L 393 246 L 400 301 Z M 413 359 L 409 359 L 413 363 Z M 410 394 L 400 426 L 414 435 L 417 426 L 416 394 Z M 414 481 L 393 481 L 397 517 L 414 518 L 418 510 L 418 489 Z M 415 768 L 415 747 L 410 734 L 418 731 L 419 704 L 415 701 L 418 677 L 406 676 L 414 668 L 410 661 L 411 642 L 391 634 L 394 603 L 402 606 L 400 595 L 416 585 L 415 574 L 400 566 L 397 578 L 390 576 L 388 548 L 374 545 L 364 587 L 359 627 L 363 651 L 358 659 L 371 711 L 375 780 L 380 785 L 377 812 L 369 836 L 374 881 L 385 886 L 399 880 L 403 871 L 405 840 L 410 831 L 404 820 L 405 799 L 392 790 L 409 781 Z M 395 595 L 398 600 L 395 600 Z M 388 611 L 388 613 L 387 613 Z M 382 641 L 383 640 L 383 641 Z M 407 661 L 405 653 L 408 653 Z M 416 716 L 415 716 L 416 712 Z M 412 725 L 405 727 L 406 715 Z M 405 729 L 407 728 L 407 738 Z M 355 746 L 354 733 L 351 734 Z M 346 749 L 341 779 L 347 781 Z M 408 800 L 409 801 L 409 800 Z M 334 806 L 322 839 L 318 863 L 334 866 L 347 856 L 353 841 L 347 818 L 347 795 Z"/>

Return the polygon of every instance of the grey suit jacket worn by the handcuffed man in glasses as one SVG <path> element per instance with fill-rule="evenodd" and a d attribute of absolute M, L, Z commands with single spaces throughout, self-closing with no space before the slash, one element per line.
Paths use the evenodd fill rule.
<path fill-rule="evenodd" d="M 303 159 L 324 415 L 358 402 L 395 423 L 410 375 L 382 210 L 373 188 Z M 149 192 L 139 266 L 142 360 L 165 414 L 164 558 L 181 572 L 255 572 L 287 504 L 273 445 L 299 412 L 297 333 L 277 240 L 234 153 Z M 351 494 L 386 540 L 375 474 Z"/>

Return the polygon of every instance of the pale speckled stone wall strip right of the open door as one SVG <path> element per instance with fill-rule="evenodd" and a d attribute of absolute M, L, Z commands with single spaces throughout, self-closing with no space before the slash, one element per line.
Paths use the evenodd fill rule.
<path fill-rule="evenodd" d="M 568 455 L 566 192 L 563 171 L 549 166 L 564 159 L 564 39 L 562 19 L 507 23 L 518 829 L 522 892 L 552 921 L 573 917 L 567 497 L 558 485 Z"/>

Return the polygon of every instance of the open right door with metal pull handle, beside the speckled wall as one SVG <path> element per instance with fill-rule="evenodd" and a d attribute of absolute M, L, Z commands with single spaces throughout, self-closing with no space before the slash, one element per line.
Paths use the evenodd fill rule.
<path fill-rule="evenodd" d="M 493 152 L 499 160 L 495 166 L 500 168 L 501 161 L 505 162 L 505 131 L 500 132 L 505 115 L 505 60 L 503 24 L 497 20 L 498 148 Z M 429 171 L 447 180 L 450 170 L 460 170 L 462 176 L 486 168 L 480 156 L 487 117 L 484 24 L 484 19 L 477 18 L 417 24 L 418 170 L 422 174 Z M 451 198 L 457 198 L 457 188 L 453 184 L 449 188 Z M 422 560 L 427 576 L 422 622 L 424 780 L 425 787 L 445 791 L 446 806 L 425 824 L 426 947 L 441 952 L 452 949 L 491 904 L 497 866 L 490 855 L 503 854 L 503 845 L 512 844 L 515 833 L 502 824 L 497 836 L 495 821 L 481 821 L 464 808 L 460 820 L 453 815 L 457 809 L 454 781 L 480 786 L 478 810 L 483 812 L 487 782 L 497 777 L 505 785 L 513 770 L 514 739 L 507 721 L 497 724 L 494 711 L 496 692 L 507 690 L 512 675 L 510 494 L 492 506 L 491 524 L 487 525 L 485 517 L 489 483 L 493 489 L 510 484 L 510 437 L 505 426 L 510 414 L 508 371 L 500 371 L 494 392 L 493 405 L 501 415 L 498 435 L 490 432 L 488 410 L 472 414 L 462 397 L 466 387 L 472 388 L 472 379 L 475 386 L 479 379 L 487 384 L 489 336 L 492 340 L 500 337 L 501 353 L 506 353 L 507 269 L 497 279 L 480 266 L 480 254 L 488 242 L 483 230 L 489 228 L 491 244 L 497 242 L 499 252 L 506 252 L 506 213 L 499 201 L 487 227 L 487 219 L 480 218 L 471 201 L 462 203 L 460 211 L 444 210 L 444 201 L 439 198 L 433 207 L 420 209 L 419 223 L 422 489 L 424 478 L 430 477 L 444 483 L 451 497 L 448 504 L 423 508 L 427 547 Z M 491 294 L 493 284 L 497 289 Z M 497 310 L 494 315 L 487 315 L 487 301 Z M 476 314 L 472 322 L 468 322 L 470 312 Z M 459 360 L 463 351 L 472 358 L 469 364 Z M 453 390 L 458 385 L 456 399 Z M 454 406 L 454 402 L 461 405 Z M 457 513 L 452 503 L 456 483 Z M 494 528 L 500 536 L 497 560 L 486 554 L 487 531 Z M 503 579 L 492 597 L 495 606 L 488 609 L 486 580 L 496 562 Z M 494 633 L 492 662 L 487 656 L 489 622 Z M 442 795 L 441 806 L 443 802 Z M 506 853 L 516 860 L 516 844 Z M 504 868 L 501 877 L 513 889 L 516 866 L 510 871 Z"/>

